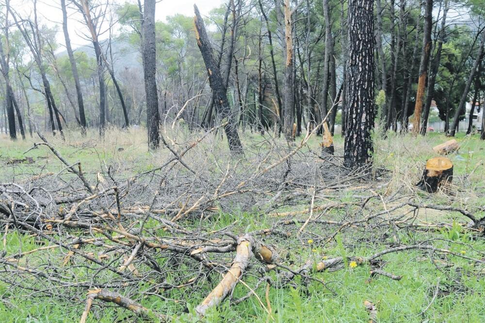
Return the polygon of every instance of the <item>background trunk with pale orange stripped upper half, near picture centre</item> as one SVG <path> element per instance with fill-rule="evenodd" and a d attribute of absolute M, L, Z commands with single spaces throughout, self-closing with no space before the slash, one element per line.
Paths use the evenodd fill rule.
<path fill-rule="evenodd" d="M 290 0 L 285 0 L 283 4 L 285 20 L 285 86 L 284 86 L 284 111 L 283 111 L 283 133 L 287 141 L 293 141 L 293 104 L 294 104 L 294 79 L 293 79 L 293 33 L 291 21 Z"/>

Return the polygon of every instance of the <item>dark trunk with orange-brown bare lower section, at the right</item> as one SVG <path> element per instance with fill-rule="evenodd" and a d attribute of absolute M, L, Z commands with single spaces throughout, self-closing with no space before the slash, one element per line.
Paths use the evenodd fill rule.
<path fill-rule="evenodd" d="M 423 28 L 423 48 L 421 51 L 420 77 L 418 79 L 418 91 L 416 93 L 416 103 L 414 105 L 413 133 L 418 134 L 421 125 L 421 111 L 423 106 L 424 87 L 428 72 L 428 62 L 431 51 L 431 28 L 433 25 L 433 0 L 426 0 L 424 12 Z"/>

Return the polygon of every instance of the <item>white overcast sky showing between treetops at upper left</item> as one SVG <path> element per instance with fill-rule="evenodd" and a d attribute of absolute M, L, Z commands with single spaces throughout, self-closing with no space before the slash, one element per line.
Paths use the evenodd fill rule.
<path fill-rule="evenodd" d="M 105 1 L 105 0 L 103 0 Z M 109 0 L 110 3 L 137 3 L 136 0 Z M 197 4 L 201 14 L 206 16 L 210 10 L 219 7 L 224 0 L 162 0 L 157 1 L 155 16 L 157 20 L 164 21 L 167 16 L 182 14 L 185 16 L 194 16 L 194 3 Z M 62 32 L 62 11 L 60 0 L 37 0 L 37 10 L 39 20 L 49 26 L 58 26 L 57 40 L 64 47 L 64 34 Z M 69 3 L 69 0 L 66 1 Z M 142 0 L 143 4 L 143 0 Z M 10 5 L 19 14 L 30 15 L 33 12 L 33 0 L 10 0 Z M 79 22 L 79 14 L 73 15 L 73 10 L 68 12 L 68 29 L 73 48 L 86 45 L 88 42 L 83 39 L 82 34 L 87 32 L 87 27 Z M 32 14 L 33 16 L 33 14 Z M 105 37 L 102 37 L 105 38 Z M 60 48 L 62 50 L 62 48 Z"/>

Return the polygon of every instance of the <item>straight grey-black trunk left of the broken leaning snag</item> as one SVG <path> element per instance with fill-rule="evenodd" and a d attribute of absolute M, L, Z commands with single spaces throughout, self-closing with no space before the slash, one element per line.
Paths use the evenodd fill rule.
<path fill-rule="evenodd" d="M 156 79 L 155 0 L 145 0 L 143 21 L 143 72 L 145 77 L 148 148 L 156 149 L 160 145 L 160 114 Z"/>

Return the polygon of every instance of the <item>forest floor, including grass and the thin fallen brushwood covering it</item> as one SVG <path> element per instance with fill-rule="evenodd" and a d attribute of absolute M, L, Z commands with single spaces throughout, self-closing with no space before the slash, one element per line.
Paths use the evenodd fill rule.
<path fill-rule="evenodd" d="M 140 174 L 157 176 L 157 168 L 172 155 L 166 148 L 154 153 L 147 152 L 145 136 L 143 129 L 130 129 L 128 132 L 108 130 L 103 141 L 97 139 L 95 132 L 84 138 L 79 133 L 66 133 L 65 142 L 59 136 L 48 136 L 47 139 L 66 161 L 73 164 L 80 162 L 88 181 L 96 182 L 96 190 L 100 190 L 106 182 L 111 185 L 110 177 L 113 174 L 116 174 L 114 177 L 124 180 Z M 171 145 L 181 150 L 190 143 L 191 136 L 193 135 L 187 129 L 166 135 L 172 139 L 177 137 L 179 140 L 174 139 Z M 202 134 L 198 136 L 201 137 Z M 448 190 L 436 194 L 422 192 L 415 184 L 420 179 L 425 161 L 436 156 L 432 147 L 449 138 L 439 133 L 430 133 L 426 137 L 390 133 L 386 139 L 376 136 L 375 171 L 372 179 L 348 179 L 348 175 L 344 172 L 340 174 L 338 166 L 334 166 L 339 164 L 338 159 L 343 151 L 343 140 L 340 136 L 335 137 L 337 157 L 328 163 L 319 159 L 318 154 L 312 154 L 319 151 L 318 142 L 321 140 L 319 137 L 312 137 L 293 156 L 300 162 L 298 167 L 301 168 L 291 169 L 291 172 L 295 172 L 290 175 L 293 176 L 291 185 L 298 185 L 294 184 L 291 189 L 282 190 L 275 184 L 271 190 L 256 191 L 259 186 L 269 185 L 267 182 L 276 177 L 275 174 L 271 177 L 261 175 L 259 179 L 252 179 L 253 184 L 247 186 L 246 191 L 239 190 L 234 194 L 239 196 L 238 199 L 226 200 L 225 194 L 233 194 L 229 185 L 249 185 L 242 184 L 238 178 L 251 178 L 251 175 L 259 174 L 260 164 L 271 164 L 264 159 L 265 149 L 270 149 L 268 137 L 271 139 L 271 134 L 263 137 L 246 130 L 242 134 L 242 140 L 251 157 L 232 164 L 224 161 L 226 155 L 220 155 L 220 147 L 226 145 L 220 140 L 220 136 L 211 135 L 201 141 L 201 145 L 207 145 L 204 150 L 201 148 L 197 153 L 187 154 L 184 161 L 188 164 L 187 169 L 195 170 L 197 176 L 194 178 L 197 180 L 210 178 L 208 174 L 212 174 L 214 178 L 222 178 L 220 185 L 215 185 L 218 187 L 215 193 L 210 193 L 210 196 L 216 197 L 204 200 L 207 208 L 198 213 L 194 211 L 193 216 L 190 216 L 192 213 L 184 212 L 181 217 L 179 215 L 182 213 L 177 210 L 175 213 L 165 212 L 165 215 L 159 215 L 174 222 L 174 218 L 178 217 L 176 221 L 184 230 L 190 228 L 194 230 L 191 232 L 195 232 L 200 229 L 207 234 L 214 234 L 214 237 L 216 232 L 230 231 L 241 236 L 265 228 L 284 227 L 284 230 L 291 231 L 291 237 L 268 235 L 261 238 L 264 243 L 278 251 L 282 259 L 279 260 L 279 268 L 274 268 L 274 265 L 262 266 L 257 260 L 252 260 L 247 273 L 238 280 L 226 300 L 220 306 L 211 307 L 201 317 L 195 313 L 195 307 L 217 285 L 224 271 L 208 272 L 194 259 L 185 260 L 188 257 L 183 253 L 167 256 L 162 251 L 157 251 L 148 258 L 146 251 L 145 256 L 140 255 L 133 260 L 134 268 L 131 266 L 130 271 L 127 270 L 127 273 L 135 277 L 134 283 L 115 287 L 120 279 L 105 269 L 109 266 L 118 267 L 123 260 L 126 261 L 123 256 L 130 255 L 136 240 L 132 241 L 133 244 L 128 243 L 129 239 L 123 242 L 125 244 L 120 242 L 121 249 L 116 244 L 118 240 L 123 240 L 119 237 L 113 238 L 113 241 L 84 245 L 79 250 L 84 255 L 98 259 L 99 263 L 94 263 L 77 253 L 67 252 L 69 248 L 59 247 L 56 241 L 72 247 L 79 243 L 73 238 L 75 236 L 103 238 L 96 230 L 75 226 L 67 228 L 61 226 L 60 222 L 59 226 L 55 226 L 53 222 L 52 225 L 40 225 L 41 229 L 29 232 L 25 226 L 16 226 L 15 221 L 12 222 L 0 213 L 0 321 L 79 322 L 86 307 L 86 294 L 98 288 L 106 288 L 130 297 L 154 313 L 167 315 L 174 322 L 364 322 L 370 318 L 374 318 L 376 322 L 483 322 L 485 236 L 483 232 L 467 227 L 470 219 L 460 211 L 469 212 L 476 219 L 485 216 L 485 142 L 480 141 L 478 135 L 457 136 L 460 149 L 448 156 L 454 165 L 453 184 Z M 301 138 L 297 138 L 297 144 L 300 140 Z M 26 191 L 33 191 L 33 187 L 43 187 L 45 192 L 55 195 L 56 198 L 62 197 L 60 190 L 65 190 L 66 196 L 72 196 L 69 190 L 74 186 L 74 179 L 72 174 L 67 174 L 68 167 L 46 146 L 29 150 L 38 142 L 41 140 L 35 135 L 34 138 L 16 142 L 5 137 L 0 138 L 0 186 L 3 191 L 7 192 L 5 190 L 10 187 L 7 183 L 16 183 Z M 208 151 L 214 154 L 213 158 L 204 156 L 204 152 Z M 273 161 L 278 161 L 278 158 Z M 298 174 L 305 169 L 305 165 L 309 169 L 308 173 Z M 194 184 L 197 183 L 196 179 L 189 177 L 190 172 L 186 167 L 180 163 L 173 167 L 178 169 L 178 173 L 172 174 L 173 177 L 167 175 L 167 178 L 178 178 L 180 181 L 171 187 L 175 198 L 187 196 L 188 200 L 191 196 L 187 192 L 202 190 L 202 186 Z M 207 169 L 199 174 L 201 168 Z M 165 174 L 171 174 L 170 172 Z M 326 173 L 332 173 L 332 182 L 325 183 L 325 180 L 330 181 Z M 227 174 L 234 175 L 231 177 Z M 49 181 L 39 182 L 39 178 L 49 178 Z M 235 184 L 229 184 L 233 178 Z M 308 183 L 302 178 L 306 178 Z M 157 183 L 159 180 L 157 178 Z M 147 180 L 146 183 L 151 182 Z M 133 188 L 140 191 L 137 191 L 137 195 L 123 200 L 121 207 L 129 208 L 137 203 L 149 204 L 145 195 L 159 192 L 156 191 L 156 185 L 151 189 L 151 184 L 146 183 L 143 187 L 150 190 L 143 191 L 140 189 L 142 186 Z M 106 184 L 107 186 L 109 185 Z M 181 186 L 184 191 L 177 191 Z M 210 185 L 212 189 L 213 186 Z M 317 186 L 319 190 L 315 193 Z M 14 191 L 10 190 L 8 192 Z M 76 190 L 79 191 L 79 188 L 76 187 Z M 120 195 L 125 198 L 123 194 Z M 270 200 L 264 200 L 262 195 L 269 196 Z M 167 195 L 160 204 L 169 203 L 167 201 L 172 198 L 170 196 L 172 195 Z M 102 198 L 107 199 L 106 196 Z M 4 197 L 0 197 L 0 201 L 2 199 Z M 197 201 L 197 198 L 192 198 L 191 203 L 192 201 Z M 419 207 L 409 205 L 409 201 Z M 88 205 L 89 203 L 79 206 L 79 210 L 86 209 L 83 214 L 88 214 L 89 211 L 92 214 L 101 202 L 97 201 L 96 207 Z M 321 208 L 309 212 L 310 204 Z M 63 207 L 68 210 L 73 207 L 71 204 L 57 203 L 55 208 L 59 210 L 55 210 L 48 205 L 46 202 L 44 210 L 50 210 L 52 214 L 43 215 L 45 219 L 57 219 L 58 215 L 54 213 L 65 213 L 67 210 L 62 210 Z M 189 203 L 188 206 L 190 205 Z M 199 207 L 201 204 L 194 202 L 194 205 Z M 423 205 L 433 207 L 425 208 Z M 456 210 L 438 210 L 436 206 L 452 207 Z M 17 208 L 20 207 L 18 204 Z M 113 203 L 109 207 L 116 208 Z M 154 206 L 150 209 L 152 207 Z M 182 198 L 175 207 L 187 209 Z M 139 230 L 146 232 L 147 237 L 148 230 L 152 230 L 152 238 L 155 235 L 159 235 L 160 239 L 173 238 L 157 221 L 150 218 L 149 221 L 145 219 L 146 223 L 140 224 L 137 222 L 138 218 L 129 219 L 129 216 L 126 215 L 127 218 L 121 220 L 126 221 L 122 224 L 118 217 L 118 226 L 129 226 L 133 230 L 129 232 L 136 232 L 137 226 L 141 226 Z M 308 222 L 309 217 L 312 221 L 324 221 Z M 79 215 L 78 221 L 87 218 L 87 215 Z M 65 217 L 59 219 L 66 220 Z M 288 223 L 282 224 L 282 220 L 288 220 Z M 349 222 L 345 222 L 347 220 Z M 39 234 L 42 230 L 44 235 Z M 379 256 L 378 262 L 359 261 L 389 248 L 423 245 L 432 245 L 435 249 L 410 248 Z M 124 253 L 120 250 L 124 250 Z M 196 250 L 190 249 L 191 255 L 196 255 Z M 234 255 L 232 249 L 228 253 L 215 253 L 206 260 L 230 265 Z M 163 269 L 160 277 L 153 273 L 152 265 L 144 263 L 147 259 L 144 257 L 157 262 L 158 266 L 155 267 Z M 316 268 L 318 261 L 336 257 L 342 257 L 340 267 L 335 268 L 339 270 L 329 268 L 320 271 Z M 299 273 L 297 268 L 311 259 L 315 259 L 315 262 L 310 265 L 308 272 L 291 276 L 290 282 L 285 281 L 287 276 L 280 275 L 287 268 Z M 35 272 L 29 272 L 26 268 L 35 269 Z M 371 275 L 371 271 L 376 268 L 394 275 L 394 278 Z M 395 276 L 402 277 L 398 280 L 399 277 Z M 88 279 L 91 287 L 68 284 L 79 283 L 83 279 Z M 127 281 L 131 282 L 130 279 L 127 278 Z M 99 281 L 113 283 L 114 287 L 109 284 L 106 287 L 100 286 Z M 187 284 L 181 286 L 183 282 Z M 174 285 L 178 286 L 174 288 Z M 151 288 L 153 286 L 157 288 Z M 365 302 L 370 302 L 366 303 L 368 307 Z M 128 309 L 99 299 L 93 302 L 86 314 L 86 322 L 141 320 Z M 148 319 L 156 321 L 157 316 L 153 314 Z"/>

